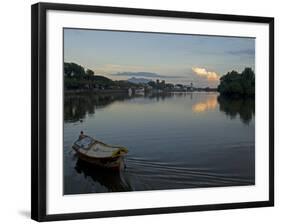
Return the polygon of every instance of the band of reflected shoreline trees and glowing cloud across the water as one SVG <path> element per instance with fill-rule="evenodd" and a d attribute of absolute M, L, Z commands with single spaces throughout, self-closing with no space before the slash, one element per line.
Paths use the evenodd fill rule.
<path fill-rule="evenodd" d="M 219 104 L 219 110 L 224 112 L 231 119 L 239 115 L 244 124 L 249 124 L 255 114 L 255 100 L 253 98 L 229 98 L 209 94 L 202 101 L 195 101 L 192 104 L 192 111 L 202 113 L 215 110 Z M 133 98 L 156 99 L 156 101 L 167 98 L 188 97 L 193 101 L 193 93 L 149 93 L 144 96 L 126 93 L 102 94 L 93 93 L 65 94 L 64 97 L 64 120 L 66 122 L 82 121 L 87 114 L 94 114 L 96 109 L 104 108 L 116 101 L 125 101 Z"/>

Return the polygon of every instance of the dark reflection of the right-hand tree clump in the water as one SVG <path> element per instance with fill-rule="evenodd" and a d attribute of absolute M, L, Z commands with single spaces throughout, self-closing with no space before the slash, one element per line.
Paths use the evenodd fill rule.
<path fill-rule="evenodd" d="M 255 115 L 255 99 L 251 97 L 231 98 L 218 96 L 220 111 L 230 116 L 231 119 L 240 116 L 244 124 L 249 124 Z"/>

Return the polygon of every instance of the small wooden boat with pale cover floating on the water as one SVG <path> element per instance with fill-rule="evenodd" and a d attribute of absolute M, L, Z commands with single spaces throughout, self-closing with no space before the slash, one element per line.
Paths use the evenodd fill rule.
<path fill-rule="evenodd" d="M 124 155 L 128 153 L 128 149 L 125 147 L 107 145 L 90 136 L 78 139 L 72 148 L 80 159 L 88 163 L 118 170 L 124 167 Z"/>

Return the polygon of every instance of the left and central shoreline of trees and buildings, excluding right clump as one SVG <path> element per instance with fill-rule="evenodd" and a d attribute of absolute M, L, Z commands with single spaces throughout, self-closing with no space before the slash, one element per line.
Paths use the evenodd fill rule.
<path fill-rule="evenodd" d="M 130 89 L 130 90 L 129 90 Z M 76 63 L 64 63 L 64 91 L 66 93 L 122 93 L 135 92 L 192 92 L 217 91 L 217 88 L 197 88 L 193 84 L 172 84 L 165 80 L 149 81 L 147 83 L 134 83 L 130 80 L 111 80 L 101 75 L 95 75 L 90 69 L 85 69 Z"/>

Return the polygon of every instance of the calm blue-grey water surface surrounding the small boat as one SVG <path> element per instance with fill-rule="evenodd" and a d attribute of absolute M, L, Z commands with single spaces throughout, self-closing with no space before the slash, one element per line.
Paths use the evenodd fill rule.
<path fill-rule="evenodd" d="M 254 100 L 217 93 L 65 94 L 64 193 L 255 184 Z M 71 146 L 80 131 L 129 149 L 120 173 Z"/>

